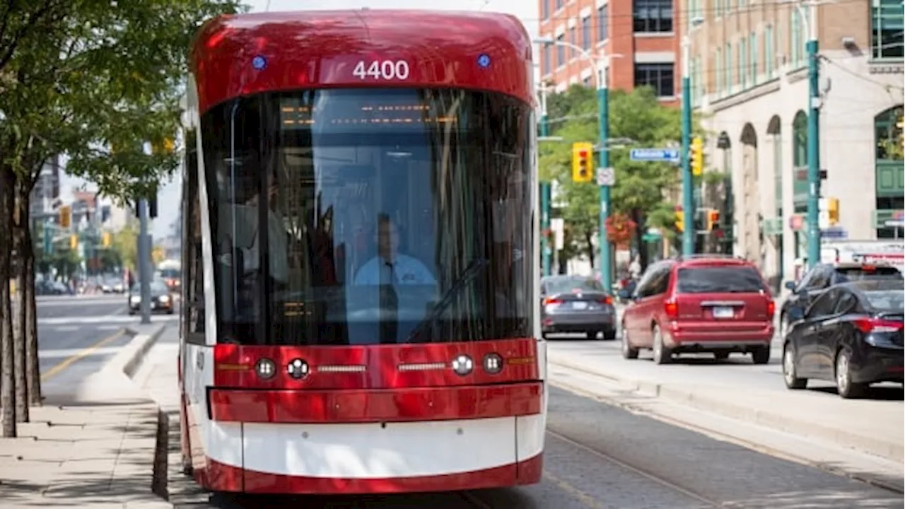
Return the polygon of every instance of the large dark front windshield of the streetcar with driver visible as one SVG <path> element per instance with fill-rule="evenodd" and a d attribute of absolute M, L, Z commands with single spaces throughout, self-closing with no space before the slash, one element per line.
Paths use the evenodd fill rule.
<path fill-rule="evenodd" d="M 218 341 L 533 333 L 533 111 L 498 93 L 271 93 L 205 113 Z"/>

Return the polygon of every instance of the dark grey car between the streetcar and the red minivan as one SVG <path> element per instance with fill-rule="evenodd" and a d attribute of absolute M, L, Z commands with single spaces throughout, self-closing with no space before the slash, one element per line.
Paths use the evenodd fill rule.
<path fill-rule="evenodd" d="M 591 277 L 552 275 L 540 280 L 540 323 L 546 338 L 560 332 L 584 332 L 595 339 L 616 337 L 613 296 Z"/>

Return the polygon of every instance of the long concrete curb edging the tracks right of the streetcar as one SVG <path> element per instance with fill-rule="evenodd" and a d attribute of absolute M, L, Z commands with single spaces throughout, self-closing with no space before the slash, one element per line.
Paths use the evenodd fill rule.
<path fill-rule="evenodd" d="M 730 403 L 723 399 L 703 396 L 688 389 L 676 389 L 660 383 L 627 379 L 608 373 L 597 373 L 569 362 L 552 360 L 549 359 L 549 357 L 548 362 L 552 365 L 558 365 L 569 370 L 581 371 L 628 385 L 633 392 L 639 392 L 644 395 L 655 396 L 662 399 L 670 399 L 692 408 L 713 412 L 728 418 L 744 420 L 763 427 L 776 429 L 777 431 L 784 431 L 798 437 L 814 437 L 831 440 L 835 444 L 843 447 L 870 453 L 874 456 L 885 457 L 893 461 L 905 462 L 905 444 L 898 441 L 858 435 L 857 430 L 843 430 L 834 427 L 821 426 L 805 420 L 789 418 L 778 412 L 747 408 L 744 405 Z"/>

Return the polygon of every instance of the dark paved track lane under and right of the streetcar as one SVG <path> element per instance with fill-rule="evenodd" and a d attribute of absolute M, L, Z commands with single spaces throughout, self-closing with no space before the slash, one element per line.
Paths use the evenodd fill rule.
<path fill-rule="evenodd" d="M 426 453 L 425 454 L 429 454 Z M 540 485 L 463 494 L 214 495 L 176 507 L 310 509 L 905 508 L 905 498 L 562 389 L 550 390 Z"/>

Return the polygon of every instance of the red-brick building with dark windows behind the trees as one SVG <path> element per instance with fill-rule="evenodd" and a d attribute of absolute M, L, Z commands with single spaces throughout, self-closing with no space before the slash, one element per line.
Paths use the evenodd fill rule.
<path fill-rule="evenodd" d="M 678 2 L 677 2 L 678 4 Z M 608 84 L 632 90 L 650 85 L 666 104 L 681 93 L 678 26 L 673 0 L 539 0 L 539 34 L 611 59 Z M 539 48 L 540 76 L 555 91 L 583 83 L 594 87 L 593 67 L 562 44 Z"/>

